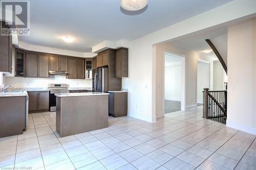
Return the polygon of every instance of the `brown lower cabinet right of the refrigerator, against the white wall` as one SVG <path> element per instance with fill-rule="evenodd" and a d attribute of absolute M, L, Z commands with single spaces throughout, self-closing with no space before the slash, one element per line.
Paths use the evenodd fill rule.
<path fill-rule="evenodd" d="M 127 92 L 109 91 L 109 115 L 113 117 L 127 116 Z"/>

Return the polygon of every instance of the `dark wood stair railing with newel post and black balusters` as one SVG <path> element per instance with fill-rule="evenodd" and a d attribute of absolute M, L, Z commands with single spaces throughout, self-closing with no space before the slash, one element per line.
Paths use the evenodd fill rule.
<path fill-rule="evenodd" d="M 223 124 L 227 119 L 227 90 L 203 91 L 203 117 Z"/>

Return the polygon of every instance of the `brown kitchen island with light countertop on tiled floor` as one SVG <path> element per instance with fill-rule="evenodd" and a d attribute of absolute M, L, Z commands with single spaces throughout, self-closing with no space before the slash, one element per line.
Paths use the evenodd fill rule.
<path fill-rule="evenodd" d="M 56 129 L 60 137 L 109 126 L 109 93 L 56 93 Z"/>

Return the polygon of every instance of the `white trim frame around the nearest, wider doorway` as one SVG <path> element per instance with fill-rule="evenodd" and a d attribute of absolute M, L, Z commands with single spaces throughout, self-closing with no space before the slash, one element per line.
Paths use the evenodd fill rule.
<path fill-rule="evenodd" d="M 175 57 L 180 57 L 181 58 L 181 110 L 185 111 L 186 110 L 186 56 L 170 51 L 164 51 L 164 58 L 163 58 L 163 111 L 164 111 L 164 84 L 165 84 L 165 55 L 170 54 Z"/>

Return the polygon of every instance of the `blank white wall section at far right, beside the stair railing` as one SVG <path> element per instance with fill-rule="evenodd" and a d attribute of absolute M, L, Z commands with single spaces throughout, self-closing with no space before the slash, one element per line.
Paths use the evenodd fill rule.
<path fill-rule="evenodd" d="M 256 135 L 256 19 L 228 28 L 227 126 Z"/>

